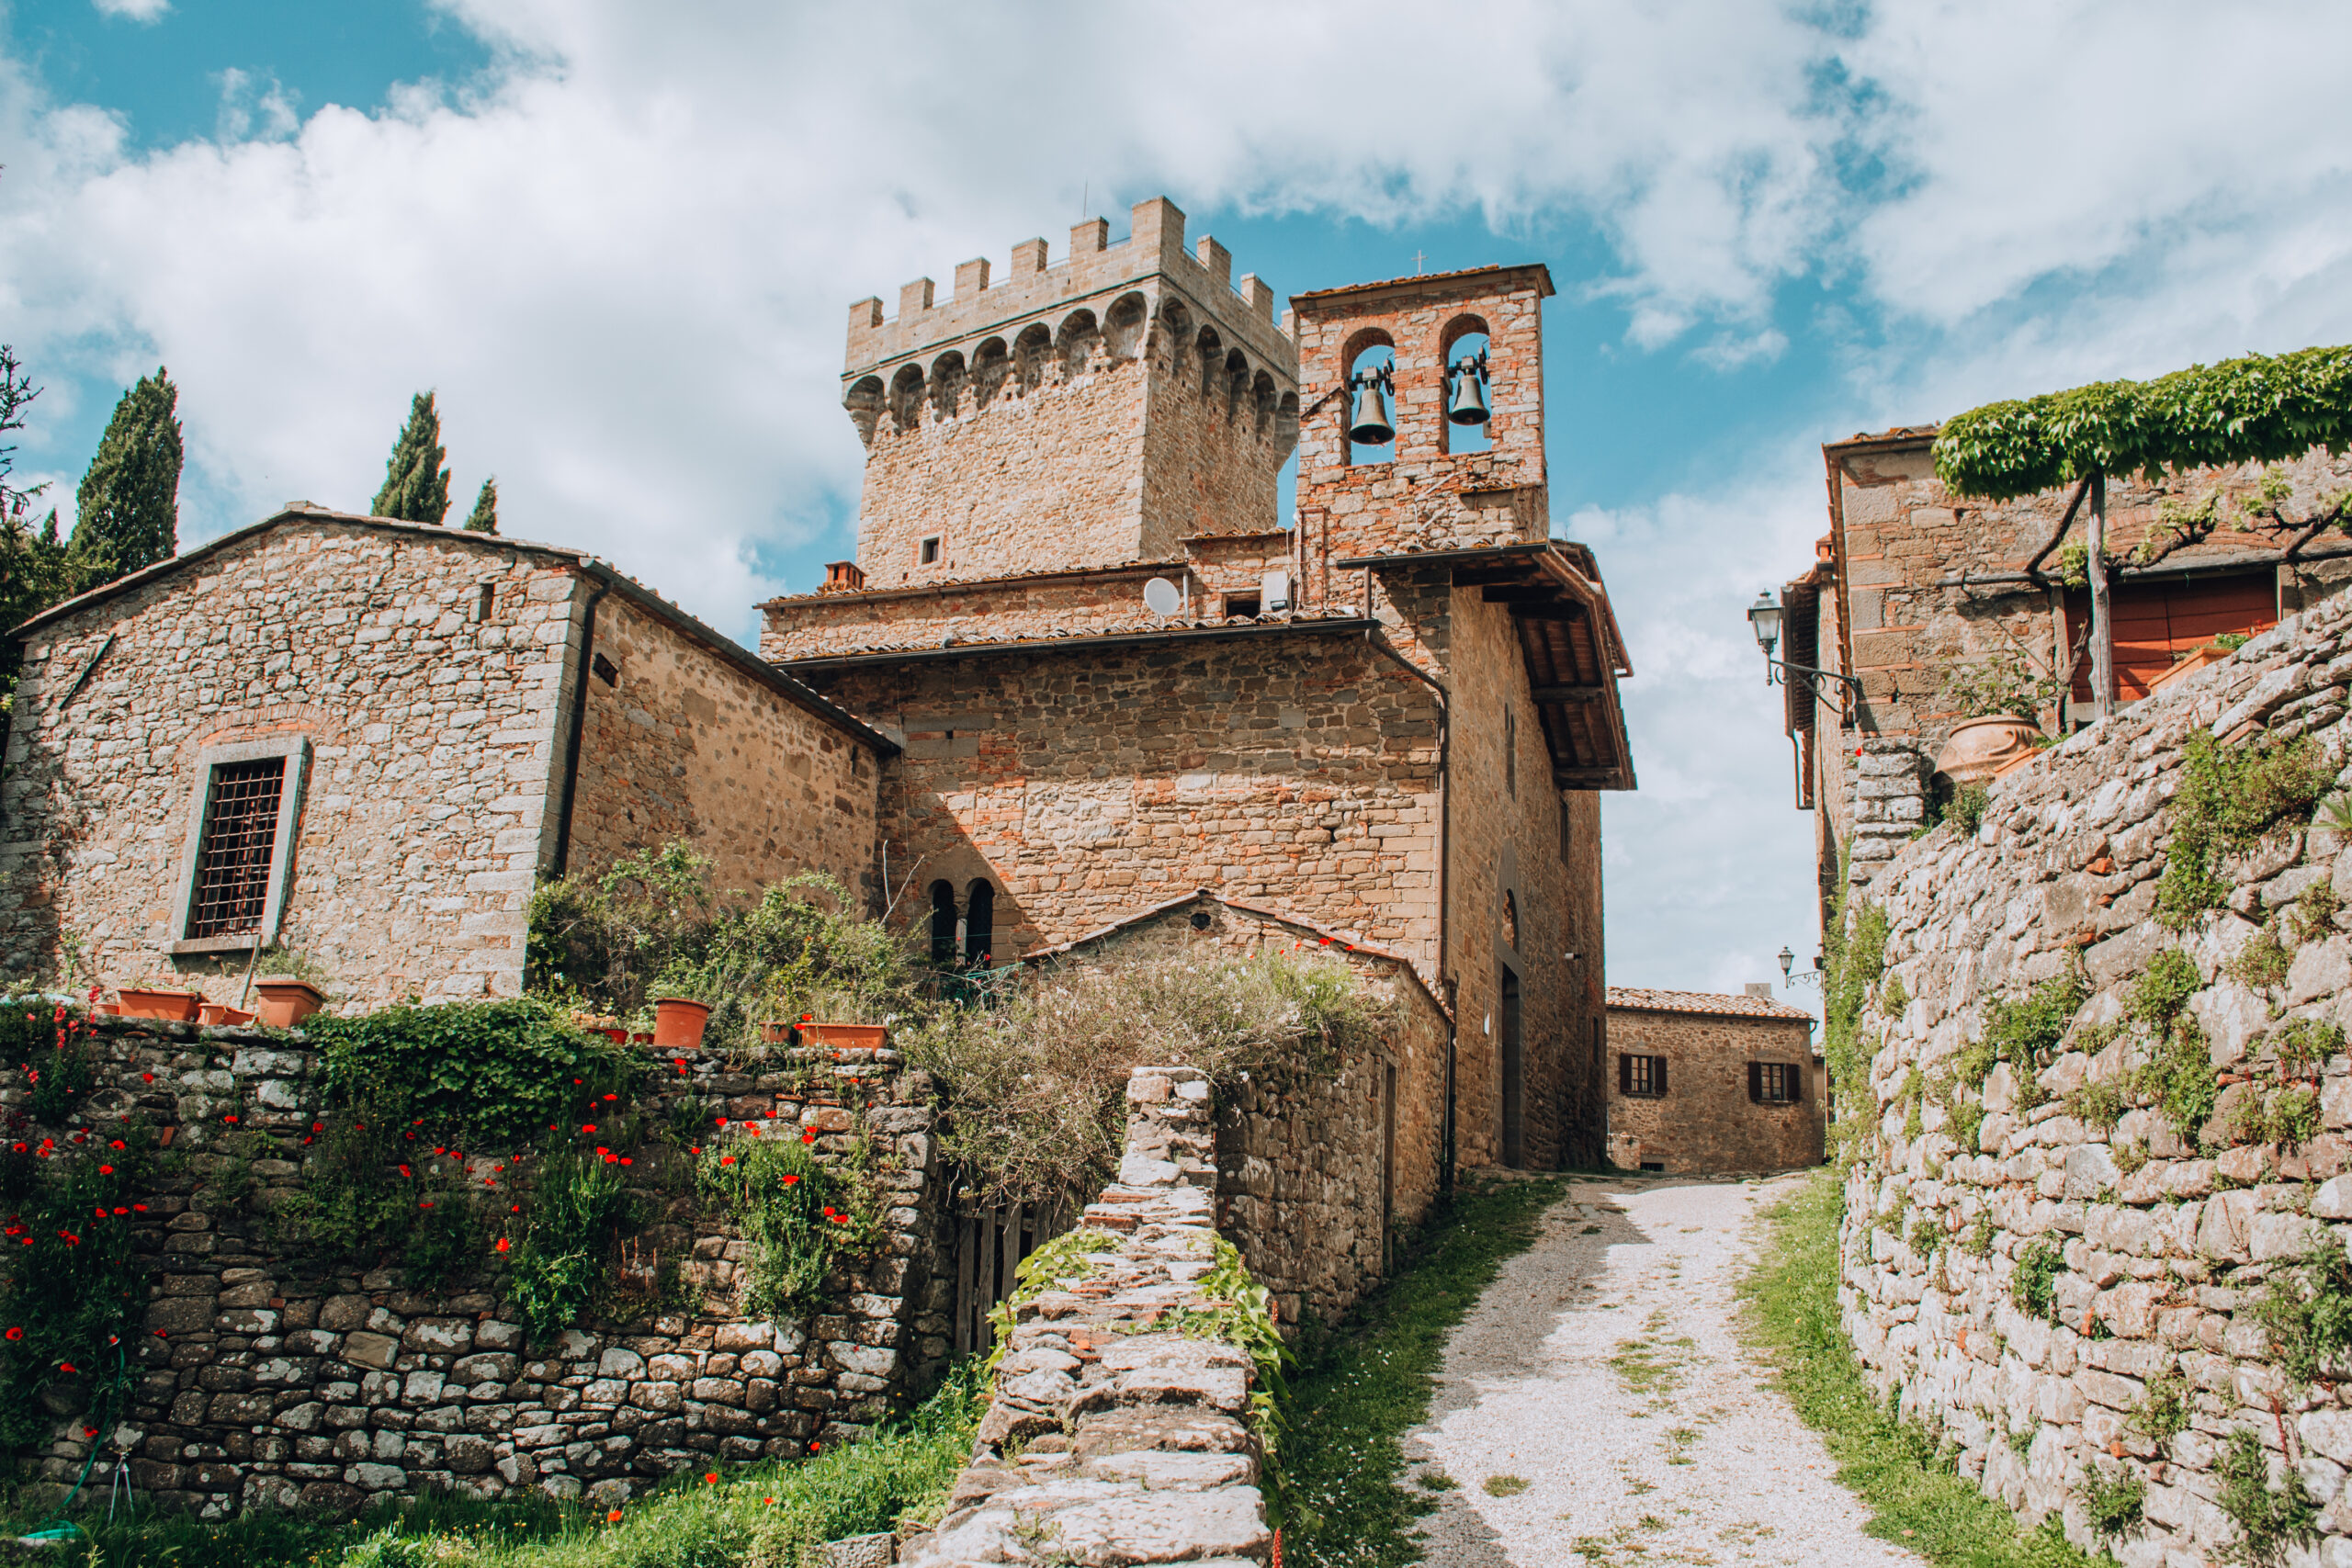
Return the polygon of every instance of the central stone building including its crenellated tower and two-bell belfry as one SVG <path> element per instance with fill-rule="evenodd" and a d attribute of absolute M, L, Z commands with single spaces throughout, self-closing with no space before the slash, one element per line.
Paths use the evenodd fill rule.
<path fill-rule="evenodd" d="M 1550 277 L 1324 289 L 1277 324 L 1228 270 L 1155 200 L 1122 244 L 1084 223 L 1061 266 L 1030 240 L 1004 282 L 974 261 L 953 301 L 851 308 L 858 559 L 762 604 L 762 654 L 903 748 L 880 835 L 934 954 L 1056 950 L 1207 889 L 1442 999 L 1444 1041 L 1397 1063 L 1439 1164 L 1595 1159 L 1595 792 L 1632 788 L 1630 663 L 1592 552 L 1550 538 Z M 1477 440 L 1446 418 L 1472 346 Z M 1367 353 L 1383 449 L 1348 440 Z M 1402 1218 L 1435 1171 L 1411 1185 Z"/>

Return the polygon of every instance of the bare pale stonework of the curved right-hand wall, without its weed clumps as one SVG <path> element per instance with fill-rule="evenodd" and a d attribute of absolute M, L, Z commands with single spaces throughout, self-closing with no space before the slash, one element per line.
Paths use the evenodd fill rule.
<path fill-rule="evenodd" d="M 2352 1239 L 2352 1058 L 2338 1048 L 2298 1067 L 2279 1051 L 2307 1020 L 2352 1023 L 2347 922 L 2298 931 L 2284 910 L 2321 884 L 2352 896 L 2352 856 L 2336 832 L 2288 823 L 2218 867 L 2227 910 L 2180 936 L 2152 919 L 2185 736 L 2312 733 L 2340 766 L 2347 682 L 2352 595 L 1997 780 L 1973 837 L 1938 830 L 1872 884 L 1907 1004 L 1863 1020 L 1877 1128 L 1846 1178 L 1846 1328 L 1879 1387 L 1900 1387 L 1903 1410 L 1957 1443 L 1964 1474 L 2027 1514 L 2060 1512 L 2077 1542 L 2091 1544 L 2091 1469 L 2145 1479 L 2147 1526 L 2122 1544 L 2131 1568 L 2234 1549 L 2216 1502 L 2216 1458 L 2234 1432 L 2270 1453 L 2272 1486 L 2293 1467 L 2321 1505 L 2324 1547 L 2298 1561 L 2352 1547 L 2352 1382 L 2288 1385 L 2256 1319 L 2284 1262 Z M 2274 985 L 2234 964 L 2263 922 L 2293 952 Z M 2201 1128 L 2143 1103 L 2131 1074 L 2147 1044 L 2105 1027 L 2124 1023 L 2133 980 L 2166 950 L 2194 961 L 2185 1016 L 2223 1084 Z M 1957 1051 L 1994 999 L 2074 964 L 2093 994 L 2065 1044 L 2044 1070 L 2002 1065 L 1966 1093 L 1959 1105 L 1983 1121 L 1962 1140 L 1947 1100 Z M 2239 1121 L 2293 1084 L 2319 1093 L 2314 1135 L 2267 1143 Z M 2084 1086 L 2122 1095 L 2112 1126 L 2086 1121 L 2105 1112 Z M 2063 1260 L 2051 1321 L 2013 1298 L 2020 1258 L 2046 1246 Z M 2173 1375 L 2192 1418 L 2157 1443 L 2133 1415 L 2150 1382 Z"/>

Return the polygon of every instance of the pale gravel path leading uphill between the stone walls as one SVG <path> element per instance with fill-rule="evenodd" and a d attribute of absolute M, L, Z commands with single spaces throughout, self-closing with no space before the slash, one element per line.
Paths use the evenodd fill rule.
<path fill-rule="evenodd" d="M 1757 1215 L 1799 1180 L 1569 1187 L 1454 1331 L 1406 1441 L 1418 1476 L 1456 1481 L 1421 1526 L 1432 1568 L 1922 1561 L 1863 1535 L 1733 1328 Z"/>

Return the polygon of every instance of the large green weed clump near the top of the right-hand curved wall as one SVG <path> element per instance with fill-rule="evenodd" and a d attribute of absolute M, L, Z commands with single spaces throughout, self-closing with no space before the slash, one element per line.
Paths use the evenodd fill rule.
<path fill-rule="evenodd" d="M 2223 745 L 2192 729 L 2180 759 L 2173 832 L 2157 882 L 2157 922 L 2171 931 L 2185 931 L 2230 898 L 2218 870 L 2223 856 L 2253 849 L 2286 818 L 2310 816 L 2336 783 L 2336 769 L 2310 736 L 2284 745 L 2265 738 Z"/>

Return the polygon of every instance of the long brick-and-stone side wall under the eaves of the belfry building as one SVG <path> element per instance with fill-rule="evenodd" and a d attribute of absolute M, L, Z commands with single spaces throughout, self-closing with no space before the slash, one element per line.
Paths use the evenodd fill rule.
<path fill-rule="evenodd" d="M 1000 959 L 1202 886 L 1430 957 L 1435 698 L 1359 637 L 804 675 L 906 736 L 894 875 L 993 882 Z M 901 919 L 924 922 L 917 903 Z"/>

